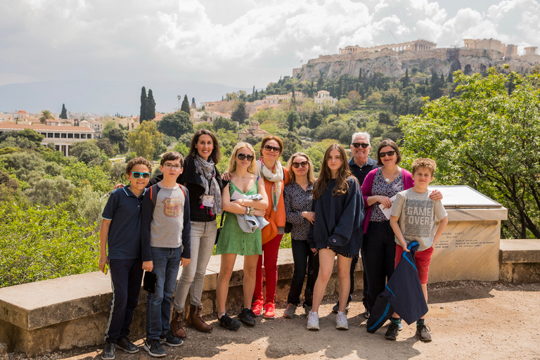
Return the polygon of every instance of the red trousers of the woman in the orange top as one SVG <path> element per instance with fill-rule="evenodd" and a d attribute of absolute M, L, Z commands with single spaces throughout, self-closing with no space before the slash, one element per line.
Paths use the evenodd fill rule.
<path fill-rule="evenodd" d="M 278 250 L 283 234 L 276 235 L 268 243 L 262 245 L 262 255 L 259 255 L 257 262 L 257 277 L 255 278 L 255 293 L 253 301 L 263 300 L 262 297 L 262 265 L 266 274 L 266 302 L 274 302 L 276 298 L 276 287 L 278 285 Z"/>

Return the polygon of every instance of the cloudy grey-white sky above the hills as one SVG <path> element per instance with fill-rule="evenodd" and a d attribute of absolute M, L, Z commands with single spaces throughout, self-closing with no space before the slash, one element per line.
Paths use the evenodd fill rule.
<path fill-rule="evenodd" d="M 540 0 L 13 0 L 0 85 L 193 80 L 264 88 L 347 45 L 463 38 L 540 46 Z M 302 62 L 303 61 L 303 62 Z"/>

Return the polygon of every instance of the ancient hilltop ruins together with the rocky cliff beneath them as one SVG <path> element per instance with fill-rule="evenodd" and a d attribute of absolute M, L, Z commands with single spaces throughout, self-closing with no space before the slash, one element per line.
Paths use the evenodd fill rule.
<path fill-rule="evenodd" d="M 318 79 L 321 74 L 327 79 L 342 75 L 370 77 L 375 72 L 400 78 L 416 69 L 425 77 L 432 72 L 437 75 L 448 75 L 449 72 L 461 70 L 465 74 L 484 72 L 495 66 L 502 68 L 508 64 L 510 70 L 526 73 L 540 63 L 540 54 L 536 46 L 525 48 L 523 55 L 518 55 L 518 46 L 503 44 L 496 39 L 464 39 L 463 47 L 437 48 L 437 44 L 416 40 L 401 44 L 387 44 L 364 48 L 346 46 L 339 54 L 321 55 L 311 59 L 302 68 L 293 69 L 293 76 L 300 80 Z M 423 77 L 417 77 L 423 80 Z M 413 79 L 413 81 L 415 81 Z"/>

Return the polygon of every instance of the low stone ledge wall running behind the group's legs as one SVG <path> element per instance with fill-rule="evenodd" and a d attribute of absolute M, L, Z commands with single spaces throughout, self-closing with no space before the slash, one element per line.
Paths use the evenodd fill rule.
<path fill-rule="evenodd" d="M 540 240 L 501 240 L 499 274 L 501 281 L 513 283 L 540 282 Z M 205 315 L 216 310 L 215 288 L 220 257 L 214 256 L 207 266 L 203 293 Z M 243 257 L 236 259 L 227 309 L 236 314 L 242 307 Z M 356 266 L 355 289 L 363 287 L 361 262 Z M 293 255 L 282 249 L 278 257 L 276 301 L 285 301 L 293 275 Z M 326 294 L 338 292 L 337 275 L 328 282 Z M 8 351 L 28 356 L 53 350 L 87 345 L 101 345 L 110 306 L 110 278 L 93 272 L 66 276 L 37 283 L 0 289 L 0 343 Z M 143 336 L 146 292 L 141 290 L 131 326 L 134 336 Z M 188 304 L 186 304 L 188 306 Z"/>

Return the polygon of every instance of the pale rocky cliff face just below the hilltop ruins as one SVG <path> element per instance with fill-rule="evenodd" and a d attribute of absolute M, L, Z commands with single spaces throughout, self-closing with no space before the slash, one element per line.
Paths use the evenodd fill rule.
<path fill-rule="evenodd" d="M 413 68 L 425 77 L 432 72 L 448 75 L 451 71 L 461 70 L 465 74 L 482 72 L 491 66 L 501 68 L 510 65 L 510 70 L 529 72 L 535 63 L 540 63 L 540 55 L 504 57 L 502 53 L 483 49 L 432 49 L 423 51 L 392 51 L 384 49 L 378 52 L 350 53 L 340 55 L 322 55 L 311 59 L 302 68 L 293 69 L 293 77 L 303 80 L 316 80 L 321 75 L 326 79 L 335 79 L 342 75 L 358 77 L 371 76 L 374 72 L 401 78 L 407 69 Z M 423 79 L 417 77 L 416 81 Z M 414 81 L 414 79 L 413 79 Z"/>

